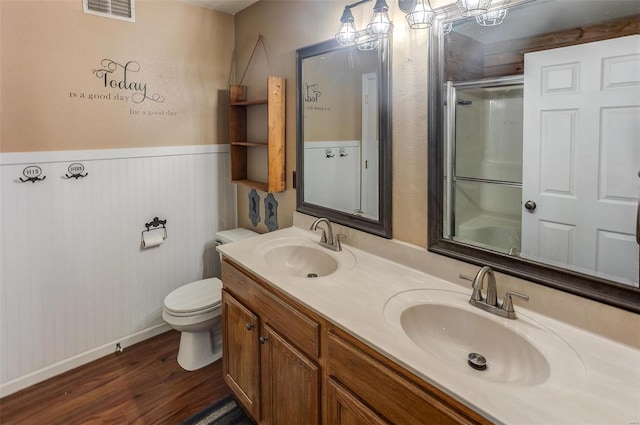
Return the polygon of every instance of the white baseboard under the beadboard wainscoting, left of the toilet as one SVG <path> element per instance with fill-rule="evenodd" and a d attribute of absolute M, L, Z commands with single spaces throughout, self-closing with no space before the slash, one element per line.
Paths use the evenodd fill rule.
<path fill-rule="evenodd" d="M 21 376 L 12 381 L 0 384 L 0 398 L 23 390 L 27 387 L 30 387 L 31 385 L 45 381 L 56 375 L 60 375 L 61 373 L 74 369 L 78 366 L 90 363 L 101 357 L 113 354 L 116 350 L 116 344 L 118 343 L 123 349 L 126 349 L 133 344 L 137 344 L 138 342 L 152 338 L 156 335 L 160 335 L 161 333 L 166 332 L 170 329 L 171 328 L 166 323 L 155 325 L 143 331 L 136 332 L 124 338 L 119 338 L 100 347 L 94 348 L 92 350 L 65 359 L 61 362 L 37 370 L 35 372 Z"/>

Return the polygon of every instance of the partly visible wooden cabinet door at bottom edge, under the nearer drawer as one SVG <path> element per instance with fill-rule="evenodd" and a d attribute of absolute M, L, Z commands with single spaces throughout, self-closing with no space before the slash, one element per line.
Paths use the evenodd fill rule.
<path fill-rule="evenodd" d="M 349 390 L 333 379 L 327 380 L 327 424 L 388 425 Z"/>

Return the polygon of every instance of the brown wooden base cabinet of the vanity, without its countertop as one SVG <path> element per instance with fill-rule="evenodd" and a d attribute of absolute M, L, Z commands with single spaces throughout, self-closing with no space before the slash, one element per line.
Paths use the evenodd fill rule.
<path fill-rule="evenodd" d="M 222 282 L 225 380 L 261 425 L 491 423 L 228 259 Z"/>

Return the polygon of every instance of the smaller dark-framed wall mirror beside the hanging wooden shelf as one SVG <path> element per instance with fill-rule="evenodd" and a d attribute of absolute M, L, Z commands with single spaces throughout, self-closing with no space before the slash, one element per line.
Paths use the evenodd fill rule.
<path fill-rule="evenodd" d="M 297 210 L 391 237 L 389 41 L 298 49 Z"/>

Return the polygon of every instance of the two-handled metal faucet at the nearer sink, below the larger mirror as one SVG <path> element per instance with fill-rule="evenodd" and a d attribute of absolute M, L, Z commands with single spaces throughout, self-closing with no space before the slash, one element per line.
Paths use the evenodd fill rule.
<path fill-rule="evenodd" d="M 488 276 L 486 298 L 482 296 L 482 283 L 484 282 L 485 276 Z M 498 305 L 496 277 L 493 273 L 493 269 L 489 266 L 484 266 L 483 268 L 481 268 L 474 278 L 463 274 L 461 274 L 460 277 L 462 279 L 470 280 L 473 282 L 471 284 L 471 288 L 473 289 L 473 291 L 471 292 L 471 298 L 469 298 L 469 304 L 484 311 L 488 311 L 491 314 L 496 314 L 500 317 L 506 317 L 507 319 L 517 319 L 518 316 L 516 315 L 516 312 L 513 308 L 512 296 L 520 297 L 525 301 L 529 301 L 529 297 L 527 295 L 520 294 L 518 292 L 507 291 L 507 293 L 504 295 L 504 299 L 502 300 L 502 305 Z"/>

